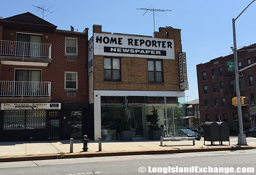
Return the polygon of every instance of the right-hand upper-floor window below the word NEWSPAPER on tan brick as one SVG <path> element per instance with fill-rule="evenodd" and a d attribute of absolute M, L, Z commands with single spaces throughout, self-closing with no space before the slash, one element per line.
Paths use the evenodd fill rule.
<path fill-rule="evenodd" d="M 148 60 L 148 82 L 163 82 L 162 61 Z"/>

